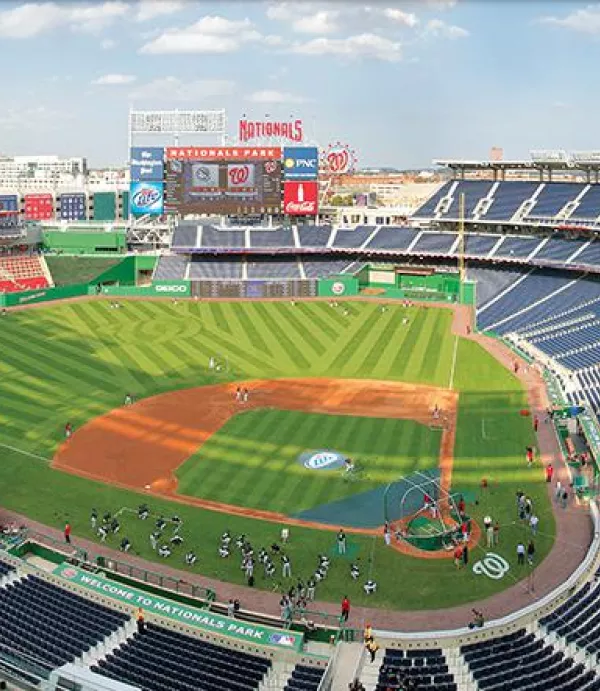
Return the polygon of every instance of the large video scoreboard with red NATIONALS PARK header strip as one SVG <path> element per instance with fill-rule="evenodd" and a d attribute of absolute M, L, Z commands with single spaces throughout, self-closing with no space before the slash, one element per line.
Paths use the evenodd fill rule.
<path fill-rule="evenodd" d="M 167 151 L 171 151 L 165 170 L 167 213 L 245 215 L 281 211 L 279 149 L 271 153 L 269 149 L 192 148 L 183 149 L 181 158 Z"/>

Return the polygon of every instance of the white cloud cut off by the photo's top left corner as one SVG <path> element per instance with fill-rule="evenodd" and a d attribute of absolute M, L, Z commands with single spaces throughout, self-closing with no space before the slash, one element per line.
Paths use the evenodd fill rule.
<path fill-rule="evenodd" d="M 117 18 L 124 17 L 128 9 L 125 2 L 25 3 L 0 12 L 0 37 L 31 38 L 65 26 L 79 31 L 101 31 Z"/>

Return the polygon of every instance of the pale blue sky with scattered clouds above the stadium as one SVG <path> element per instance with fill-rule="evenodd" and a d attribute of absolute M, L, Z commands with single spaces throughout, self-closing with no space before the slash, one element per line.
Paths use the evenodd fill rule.
<path fill-rule="evenodd" d="M 300 118 L 361 167 L 600 149 L 600 4 L 5 1 L 0 49 L 6 155 L 124 164 L 130 108 Z"/>

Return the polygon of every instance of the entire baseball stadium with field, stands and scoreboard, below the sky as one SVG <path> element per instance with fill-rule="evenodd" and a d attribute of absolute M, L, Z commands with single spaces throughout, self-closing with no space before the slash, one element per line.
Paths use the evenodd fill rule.
<path fill-rule="evenodd" d="M 600 152 L 123 127 L 0 161 L 0 688 L 600 690 Z"/>

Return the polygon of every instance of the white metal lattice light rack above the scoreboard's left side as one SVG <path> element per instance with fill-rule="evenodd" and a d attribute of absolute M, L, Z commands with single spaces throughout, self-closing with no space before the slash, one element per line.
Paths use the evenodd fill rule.
<path fill-rule="evenodd" d="M 175 145 L 182 134 L 226 136 L 224 110 L 130 110 L 129 148 L 136 135 L 173 135 Z"/>

